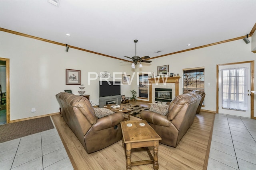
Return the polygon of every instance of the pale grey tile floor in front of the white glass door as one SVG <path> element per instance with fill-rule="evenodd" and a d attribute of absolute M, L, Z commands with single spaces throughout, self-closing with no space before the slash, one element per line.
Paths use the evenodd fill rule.
<path fill-rule="evenodd" d="M 256 120 L 215 115 L 207 170 L 256 170 Z"/>

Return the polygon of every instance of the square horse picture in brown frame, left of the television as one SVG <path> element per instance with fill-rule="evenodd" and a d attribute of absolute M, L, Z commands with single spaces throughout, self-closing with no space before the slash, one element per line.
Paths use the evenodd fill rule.
<path fill-rule="evenodd" d="M 66 69 L 66 85 L 80 85 L 81 70 Z"/>

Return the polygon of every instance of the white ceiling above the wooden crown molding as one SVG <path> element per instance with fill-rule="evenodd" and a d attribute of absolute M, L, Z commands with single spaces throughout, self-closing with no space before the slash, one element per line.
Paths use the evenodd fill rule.
<path fill-rule="evenodd" d="M 59 1 L 0 0 L 0 27 L 127 59 L 134 39 L 137 56 L 156 57 L 244 36 L 256 22 L 256 0 Z"/>

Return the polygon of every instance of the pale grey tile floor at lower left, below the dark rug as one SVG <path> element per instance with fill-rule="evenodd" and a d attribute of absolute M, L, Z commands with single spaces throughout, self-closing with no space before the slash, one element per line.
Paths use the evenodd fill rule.
<path fill-rule="evenodd" d="M 56 128 L 0 143 L 0 170 L 74 170 Z"/>

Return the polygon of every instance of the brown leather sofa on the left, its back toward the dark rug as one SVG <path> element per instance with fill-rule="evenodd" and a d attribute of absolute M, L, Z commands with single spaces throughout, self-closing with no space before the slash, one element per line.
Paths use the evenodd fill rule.
<path fill-rule="evenodd" d="M 114 113 L 98 119 L 87 98 L 66 92 L 56 94 L 56 98 L 64 121 L 88 154 L 122 139 L 120 126 L 120 121 L 124 120 L 122 113 Z"/>

